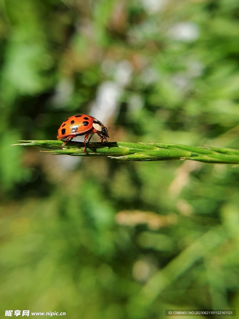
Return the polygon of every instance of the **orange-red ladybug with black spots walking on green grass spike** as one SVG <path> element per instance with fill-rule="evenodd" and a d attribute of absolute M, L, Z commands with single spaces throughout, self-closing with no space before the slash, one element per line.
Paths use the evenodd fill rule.
<path fill-rule="evenodd" d="M 101 143 L 104 140 L 107 141 L 108 130 L 106 127 L 93 116 L 86 114 L 78 114 L 73 115 L 66 119 L 62 125 L 60 126 L 57 132 L 57 139 L 61 140 L 62 138 L 66 138 L 66 141 L 62 144 L 62 148 L 71 141 L 74 137 L 78 135 L 85 135 L 84 138 L 84 153 L 86 151 L 86 140 L 90 136 L 88 142 L 90 142 L 91 137 L 94 134 L 98 134 L 101 138 Z"/>

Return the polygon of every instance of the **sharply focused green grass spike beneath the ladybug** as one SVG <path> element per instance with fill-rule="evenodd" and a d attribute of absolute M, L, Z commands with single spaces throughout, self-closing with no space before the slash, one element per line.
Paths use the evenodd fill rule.
<path fill-rule="evenodd" d="M 211 146 L 195 147 L 164 143 L 108 142 L 88 143 L 83 153 L 83 143 L 69 142 L 61 149 L 62 142 L 57 140 L 29 140 L 14 145 L 38 146 L 54 149 L 54 154 L 71 156 L 108 156 L 119 160 L 157 161 L 171 159 L 191 159 L 206 163 L 239 164 L 239 150 Z"/>

